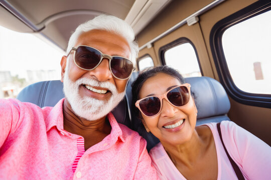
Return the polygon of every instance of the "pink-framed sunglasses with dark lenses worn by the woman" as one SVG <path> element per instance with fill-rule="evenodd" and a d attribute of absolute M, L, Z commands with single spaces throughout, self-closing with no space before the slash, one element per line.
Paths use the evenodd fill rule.
<path fill-rule="evenodd" d="M 165 98 L 175 107 L 181 107 L 188 103 L 190 98 L 190 84 L 185 83 L 168 90 L 162 95 L 152 95 L 135 102 L 135 106 L 146 116 L 153 117 L 160 113 L 162 100 Z"/>

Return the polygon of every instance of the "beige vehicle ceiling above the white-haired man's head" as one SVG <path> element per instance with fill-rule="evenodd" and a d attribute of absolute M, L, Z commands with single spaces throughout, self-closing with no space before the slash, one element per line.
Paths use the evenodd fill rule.
<path fill-rule="evenodd" d="M 0 0 L 0 25 L 36 32 L 66 50 L 82 22 L 106 13 L 127 21 L 138 34 L 171 0 Z"/>

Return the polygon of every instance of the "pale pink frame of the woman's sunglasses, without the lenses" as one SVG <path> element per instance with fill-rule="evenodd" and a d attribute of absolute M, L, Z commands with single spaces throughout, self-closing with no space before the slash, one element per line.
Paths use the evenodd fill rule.
<path fill-rule="evenodd" d="M 182 107 L 182 106 L 185 106 L 185 105 L 188 104 L 189 100 L 188 100 L 188 102 L 187 102 L 186 104 L 181 105 L 181 106 L 177 106 L 177 105 L 174 105 L 174 104 L 168 99 L 168 97 L 167 97 L 167 94 L 168 94 L 172 89 L 175 89 L 175 88 L 181 87 L 181 86 L 187 87 L 188 92 L 189 92 L 189 100 L 190 100 L 190 98 L 191 98 L 191 91 L 190 91 L 191 85 L 190 85 L 189 83 L 184 83 L 184 84 L 182 84 L 182 85 L 178 85 L 178 86 L 175 86 L 175 87 L 171 88 L 170 90 L 168 90 L 167 92 L 165 92 L 165 93 L 162 94 L 162 95 L 151 95 L 151 96 L 147 96 L 147 97 L 144 97 L 144 98 L 142 98 L 142 99 L 139 99 L 139 100 L 137 100 L 137 102 L 135 102 L 135 106 L 138 107 L 138 108 L 140 109 L 141 113 L 143 113 L 144 115 L 146 115 L 146 114 L 141 110 L 140 102 L 141 102 L 142 100 L 144 100 L 144 99 L 146 99 L 146 98 L 150 98 L 150 97 L 157 97 L 157 98 L 159 98 L 159 100 L 160 100 L 160 109 L 159 109 L 159 111 L 158 111 L 156 114 L 151 115 L 151 116 L 146 115 L 146 116 L 148 116 L 148 117 L 154 117 L 154 116 L 158 115 L 158 114 L 161 112 L 162 106 L 163 106 L 163 99 L 166 99 L 166 100 L 167 100 L 171 105 L 173 105 L 174 107 Z"/>

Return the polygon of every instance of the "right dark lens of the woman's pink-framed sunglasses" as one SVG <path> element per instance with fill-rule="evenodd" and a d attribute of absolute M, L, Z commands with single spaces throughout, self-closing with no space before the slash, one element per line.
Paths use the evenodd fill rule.
<path fill-rule="evenodd" d="M 185 105 L 189 101 L 188 88 L 186 86 L 176 87 L 168 92 L 167 97 L 176 106 Z"/>

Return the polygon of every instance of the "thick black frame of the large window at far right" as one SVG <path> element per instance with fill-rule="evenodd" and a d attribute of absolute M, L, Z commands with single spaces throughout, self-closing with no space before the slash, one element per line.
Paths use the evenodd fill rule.
<path fill-rule="evenodd" d="M 251 93 L 239 89 L 231 78 L 222 46 L 222 35 L 229 27 L 271 10 L 269 0 L 259 0 L 219 20 L 211 29 L 210 46 L 218 77 L 227 94 L 242 104 L 271 108 L 271 94 Z"/>

